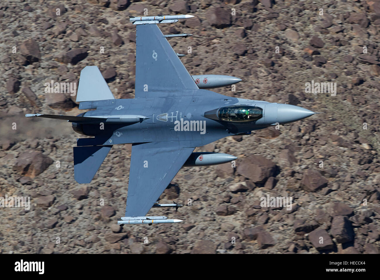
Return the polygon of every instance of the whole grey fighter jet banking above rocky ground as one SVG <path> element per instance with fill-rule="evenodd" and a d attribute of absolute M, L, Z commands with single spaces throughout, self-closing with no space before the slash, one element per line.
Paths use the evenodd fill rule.
<path fill-rule="evenodd" d="M 97 66 L 81 71 L 76 101 L 78 116 L 27 114 L 67 120 L 73 130 L 91 138 L 77 139 L 74 179 L 90 183 L 113 145 L 132 144 L 125 217 L 118 224 L 180 222 L 165 216 L 146 216 L 182 166 L 209 166 L 236 157 L 193 152 L 226 136 L 250 134 L 274 125 L 296 122 L 316 114 L 289 104 L 225 96 L 200 88 L 232 85 L 241 79 L 223 75 L 190 75 L 157 24 L 191 15 L 131 17 L 136 25 L 135 98 L 115 99 Z M 182 35 L 182 36 L 181 36 Z"/>

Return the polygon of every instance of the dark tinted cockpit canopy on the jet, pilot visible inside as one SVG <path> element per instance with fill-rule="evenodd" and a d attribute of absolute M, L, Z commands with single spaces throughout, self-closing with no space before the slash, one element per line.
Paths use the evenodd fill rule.
<path fill-rule="evenodd" d="M 233 105 L 208 111 L 204 117 L 225 122 L 253 122 L 263 117 L 263 109 L 250 105 Z"/>

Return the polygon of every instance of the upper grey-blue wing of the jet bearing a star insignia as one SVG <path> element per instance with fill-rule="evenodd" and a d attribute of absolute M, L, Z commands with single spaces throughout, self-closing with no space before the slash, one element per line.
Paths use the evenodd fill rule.
<path fill-rule="evenodd" d="M 135 98 L 186 89 L 199 88 L 157 24 L 137 25 Z"/>

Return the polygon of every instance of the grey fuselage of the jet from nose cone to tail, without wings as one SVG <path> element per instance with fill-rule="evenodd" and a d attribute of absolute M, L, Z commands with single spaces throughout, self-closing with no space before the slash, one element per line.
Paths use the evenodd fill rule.
<path fill-rule="evenodd" d="M 101 136 L 101 142 L 104 144 L 181 140 L 181 145 L 188 147 L 204 146 L 226 136 L 250 133 L 253 130 L 293 122 L 314 114 L 312 111 L 297 106 L 234 98 L 208 90 L 190 90 L 188 95 L 166 93 L 163 97 L 89 101 L 81 106 L 86 109 L 96 108 L 96 110 L 81 114 L 84 117 L 114 115 L 147 117 L 142 122 L 127 125 L 105 123 L 103 129 L 99 124 L 81 126 L 82 134 L 97 138 Z M 220 108 L 231 106 L 236 109 L 230 110 L 233 117 L 236 117 L 234 112 L 238 112 L 237 109 L 239 109 L 241 118 L 245 119 L 236 121 L 235 119 L 218 119 L 218 117 L 210 118 L 207 114 L 205 116 L 205 112 L 218 112 Z M 252 118 L 248 119 L 249 116 L 241 114 L 241 111 L 246 112 L 245 109 L 249 110 L 249 108 L 256 108 L 262 116 L 251 120 Z M 290 110 L 290 112 L 284 114 L 284 110 Z M 301 117 L 299 114 L 294 115 L 297 110 L 304 111 L 308 115 Z M 219 110 L 220 116 L 222 113 Z"/>

